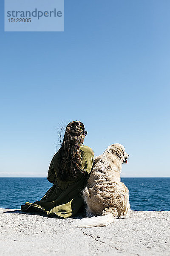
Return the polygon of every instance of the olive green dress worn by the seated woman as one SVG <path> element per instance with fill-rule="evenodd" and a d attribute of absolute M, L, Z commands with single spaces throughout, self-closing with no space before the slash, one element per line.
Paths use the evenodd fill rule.
<path fill-rule="evenodd" d="M 53 186 L 48 189 L 40 201 L 32 203 L 26 202 L 21 205 L 21 211 L 42 211 L 48 215 L 55 215 L 59 218 L 68 218 L 75 215 L 82 206 L 82 189 L 87 183 L 87 179 L 94 163 L 94 152 L 88 146 L 80 146 L 82 155 L 82 165 L 85 176 L 80 174 L 77 180 L 62 181 L 57 178 L 56 161 L 57 153 L 51 160 L 48 169 L 48 181 Z"/>

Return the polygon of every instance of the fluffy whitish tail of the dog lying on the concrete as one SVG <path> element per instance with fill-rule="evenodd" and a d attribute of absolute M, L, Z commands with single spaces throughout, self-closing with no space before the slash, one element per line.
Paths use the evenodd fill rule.
<path fill-rule="evenodd" d="M 97 217 L 83 218 L 80 221 L 74 222 L 73 225 L 77 227 L 104 227 L 114 222 L 114 220 L 115 216 L 112 213 L 107 213 Z"/>

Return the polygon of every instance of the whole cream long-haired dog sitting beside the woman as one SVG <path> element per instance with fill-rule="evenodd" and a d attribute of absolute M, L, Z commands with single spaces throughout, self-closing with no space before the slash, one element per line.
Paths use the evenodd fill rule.
<path fill-rule="evenodd" d="M 110 145 L 105 152 L 96 157 L 88 184 L 82 192 L 86 215 L 74 222 L 78 227 L 103 227 L 116 218 L 127 218 L 130 214 L 129 190 L 120 181 L 122 163 L 127 163 L 129 154 L 123 145 Z M 96 217 L 97 216 L 97 217 Z"/>

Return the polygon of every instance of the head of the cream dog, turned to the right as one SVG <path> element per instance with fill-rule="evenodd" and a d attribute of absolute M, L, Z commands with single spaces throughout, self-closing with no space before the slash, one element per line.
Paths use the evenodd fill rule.
<path fill-rule="evenodd" d="M 121 163 L 127 163 L 127 158 L 129 157 L 129 154 L 125 152 L 125 148 L 123 145 L 119 143 L 112 144 L 106 149 L 105 152 L 116 155 L 116 157 L 121 160 Z"/>

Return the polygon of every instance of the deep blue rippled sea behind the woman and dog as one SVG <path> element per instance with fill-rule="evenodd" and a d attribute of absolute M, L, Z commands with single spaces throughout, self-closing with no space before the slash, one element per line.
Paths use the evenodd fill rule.
<path fill-rule="evenodd" d="M 170 178 L 121 178 L 132 210 L 170 211 Z M 0 208 L 20 209 L 39 201 L 53 184 L 46 178 L 0 178 Z"/>

